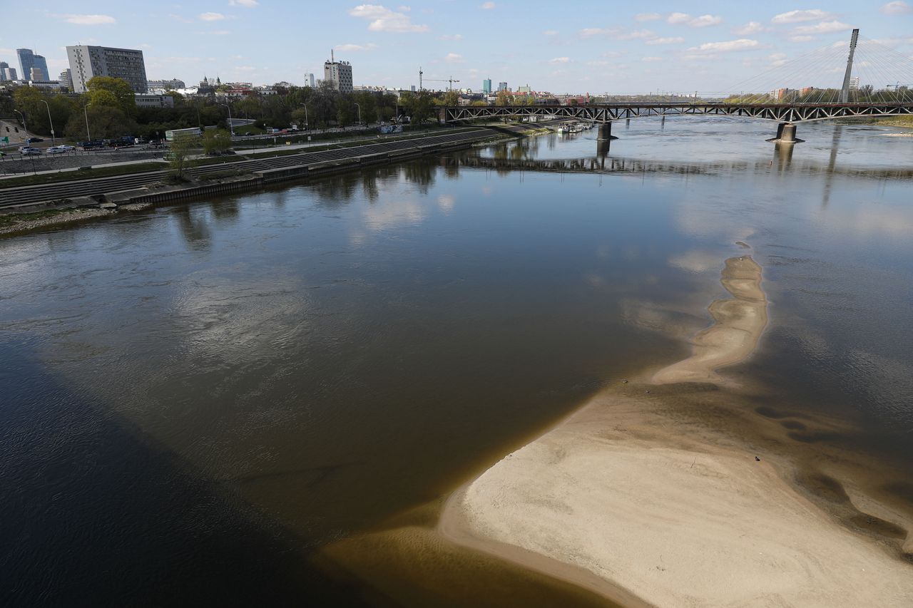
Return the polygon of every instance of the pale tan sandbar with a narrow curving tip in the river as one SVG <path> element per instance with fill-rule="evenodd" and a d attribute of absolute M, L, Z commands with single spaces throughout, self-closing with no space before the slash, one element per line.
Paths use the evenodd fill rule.
<path fill-rule="evenodd" d="M 791 483 L 789 457 L 669 406 L 687 391 L 698 406 L 705 389 L 707 404 L 738 396 L 718 370 L 748 357 L 766 326 L 761 267 L 732 257 L 721 282 L 733 297 L 710 305 L 690 357 L 617 383 L 505 456 L 449 499 L 440 533 L 624 605 L 913 605 L 901 515 L 843 494 L 899 538 L 848 529 Z"/>

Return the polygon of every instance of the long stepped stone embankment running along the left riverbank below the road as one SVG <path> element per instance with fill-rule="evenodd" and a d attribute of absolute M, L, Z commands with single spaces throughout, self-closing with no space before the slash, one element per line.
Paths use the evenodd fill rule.
<path fill-rule="evenodd" d="M 518 133 L 525 131 L 523 128 L 507 129 L 509 131 Z M 359 146 L 351 146 L 347 148 L 323 150 L 320 152 L 300 152 L 298 154 L 288 154 L 285 156 L 275 156 L 263 159 L 250 159 L 246 161 L 204 165 L 201 167 L 194 167 L 193 169 L 188 170 L 187 173 L 193 176 L 200 176 L 205 175 L 206 173 L 215 173 L 230 169 L 256 172 L 268 169 L 306 166 L 320 162 L 341 161 L 368 154 L 397 152 L 400 150 L 408 150 L 420 146 L 472 142 L 486 139 L 498 134 L 498 132 L 501 131 L 504 130 L 494 130 L 480 127 L 473 131 L 417 137 L 398 142 L 378 142 Z M 4 188 L 3 183 L 0 182 L 0 208 L 13 207 L 17 205 L 40 204 L 47 201 L 56 201 L 64 198 L 74 198 L 77 196 L 95 196 L 99 194 L 119 192 L 121 190 L 131 190 L 133 188 L 140 188 L 149 183 L 159 182 L 167 174 L 167 171 L 151 171 L 145 173 L 119 175 L 114 177 L 100 177 L 95 179 L 76 180 L 72 182 L 47 183 L 41 185 L 18 186 L 12 188 Z"/>

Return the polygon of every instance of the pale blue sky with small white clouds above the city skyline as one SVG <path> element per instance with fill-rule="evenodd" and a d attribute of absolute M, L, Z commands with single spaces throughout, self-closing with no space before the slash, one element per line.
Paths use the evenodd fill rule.
<path fill-rule="evenodd" d="M 65 47 L 89 44 L 142 49 L 149 79 L 303 84 L 308 72 L 322 78 L 333 49 L 352 63 L 355 85 L 408 89 L 423 68 L 429 89 L 452 77 L 479 90 L 490 78 L 597 94 L 731 92 L 815 48 L 845 45 L 853 27 L 913 58 L 913 0 L 406 2 L 0 0 L 0 61 L 18 70 L 15 49 L 32 48 L 56 78 Z M 831 71 L 808 84 L 839 87 L 842 74 Z"/>

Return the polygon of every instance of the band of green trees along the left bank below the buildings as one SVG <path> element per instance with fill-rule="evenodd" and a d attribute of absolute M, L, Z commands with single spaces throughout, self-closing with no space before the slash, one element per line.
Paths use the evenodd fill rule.
<path fill-rule="evenodd" d="M 0 97 L 0 115 L 13 110 L 26 117 L 28 130 L 43 135 L 51 122 L 59 136 L 84 140 L 134 135 L 147 139 L 162 137 L 164 131 L 207 125 L 227 128 L 227 110 L 219 99 L 184 98 L 170 91 L 173 108 L 139 108 L 130 85 L 122 79 L 96 77 L 87 83 L 88 92 L 74 96 L 32 87 L 19 87 L 11 97 Z M 233 118 L 254 119 L 259 128 L 287 128 L 305 124 L 310 128 L 347 127 L 362 122 L 392 121 L 400 115 L 420 123 L 431 118 L 436 103 L 456 105 L 456 91 L 435 99 L 428 91 L 393 93 L 355 91 L 342 94 L 329 83 L 319 87 L 291 88 L 283 94 L 252 94 L 240 100 L 226 100 Z M 45 105 L 47 103 L 47 106 Z M 49 110 L 49 117 L 48 117 Z"/>

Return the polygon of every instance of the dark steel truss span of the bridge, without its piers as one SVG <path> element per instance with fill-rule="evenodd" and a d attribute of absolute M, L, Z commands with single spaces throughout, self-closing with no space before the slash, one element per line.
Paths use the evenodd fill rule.
<path fill-rule="evenodd" d="M 829 121 L 866 116 L 913 115 L 913 102 L 864 103 L 608 103 L 577 106 L 439 106 L 442 122 L 486 119 L 574 119 L 612 122 L 650 116 L 741 116 L 777 122 Z"/>

